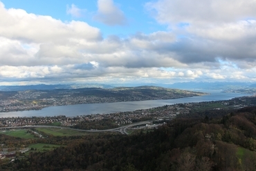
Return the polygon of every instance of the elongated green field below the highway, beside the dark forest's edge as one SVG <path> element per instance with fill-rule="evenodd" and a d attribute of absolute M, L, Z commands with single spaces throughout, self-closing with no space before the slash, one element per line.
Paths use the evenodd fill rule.
<path fill-rule="evenodd" d="M 90 132 L 83 132 L 79 130 L 68 130 L 64 128 L 37 128 L 37 131 L 51 134 L 53 136 L 73 136 L 73 135 L 86 135 L 91 134 Z"/>

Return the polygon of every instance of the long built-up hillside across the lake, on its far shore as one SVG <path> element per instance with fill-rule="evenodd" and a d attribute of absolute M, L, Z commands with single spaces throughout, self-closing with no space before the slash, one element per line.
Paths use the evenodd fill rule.
<path fill-rule="evenodd" d="M 0 112 L 40 110 L 53 105 L 176 99 L 204 94 L 154 86 L 0 91 Z"/>

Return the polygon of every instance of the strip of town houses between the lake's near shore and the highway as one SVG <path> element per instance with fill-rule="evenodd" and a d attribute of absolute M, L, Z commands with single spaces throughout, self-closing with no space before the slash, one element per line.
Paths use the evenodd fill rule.
<path fill-rule="evenodd" d="M 256 97 L 237 97 L 228 101 L 206 101 L 199 103 L 179 103 L 174 105 L 164 105 L 157 108 L 145 110 L 135 110 L 130 112 L 116 112 L 111 114 L 89 114 L 77 117 L 66 117 L 64 115 L 56 117 L 7 117 L 0 119 L 0 127 L 15 127 L 23 125 L 48 125 L 60 123 L 61 126 L 72 127 L 81 122 L 94 124 L 97 121 L 113 121 L 116 127 L 133 123 L 136 121 L 170 120 L 179 115 L 186 115 L 193 110 L 224 110 L 237 109 L 246 106 L 256 105 Z"/>

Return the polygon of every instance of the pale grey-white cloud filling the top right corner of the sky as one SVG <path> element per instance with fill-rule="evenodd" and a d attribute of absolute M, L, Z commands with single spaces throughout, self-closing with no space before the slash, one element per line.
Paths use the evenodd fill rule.
<path fill-rule="evenodd" d="M 177 23 L 223 23 L 256 17 L 255 0 L 158 0 L 147 3 L 148 10 L 155 10 L 156 19 L 174 26 Z"/>

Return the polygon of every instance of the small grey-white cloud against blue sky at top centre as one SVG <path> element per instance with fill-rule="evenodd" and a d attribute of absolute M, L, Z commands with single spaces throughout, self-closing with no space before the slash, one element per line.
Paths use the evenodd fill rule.
<path fill-rule="evenodd" d="M 93 18 L 109 26 L 127 24 L 124 12 L 113 3 L 113 0 L 98 0 L 98 12 Z"/>

